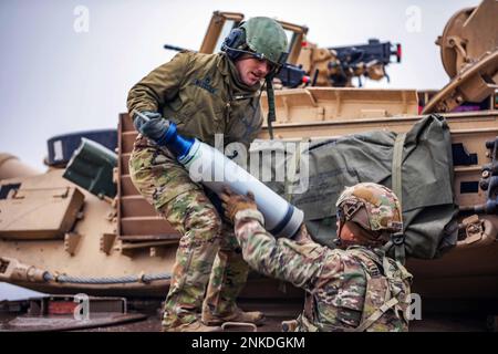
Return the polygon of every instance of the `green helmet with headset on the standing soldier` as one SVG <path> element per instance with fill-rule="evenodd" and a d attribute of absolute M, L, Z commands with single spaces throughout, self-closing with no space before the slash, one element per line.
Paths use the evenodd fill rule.
<path fill-rule="evenodd" d="M 249 19 L 225 39 L 221 50 L 231 60 L 250 54 L 259 60 L 270 61 L 278 70 L 286 63 L 288 41 L 282 25 L 273 19 L 257 17 Z"/>

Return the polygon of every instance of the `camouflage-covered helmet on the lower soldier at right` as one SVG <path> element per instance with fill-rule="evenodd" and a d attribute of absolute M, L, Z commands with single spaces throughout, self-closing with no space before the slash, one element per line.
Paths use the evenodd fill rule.
<path fill-rule="evenodd" d="M 355 222 L 367 231 L 363 235 L 369 241 L 385 243 L 391 235 L 403 231 L 400 201 L 387 187 L 373 183 L 346 187 L 335 207 L 341 225 L 345 221 Z"/>

